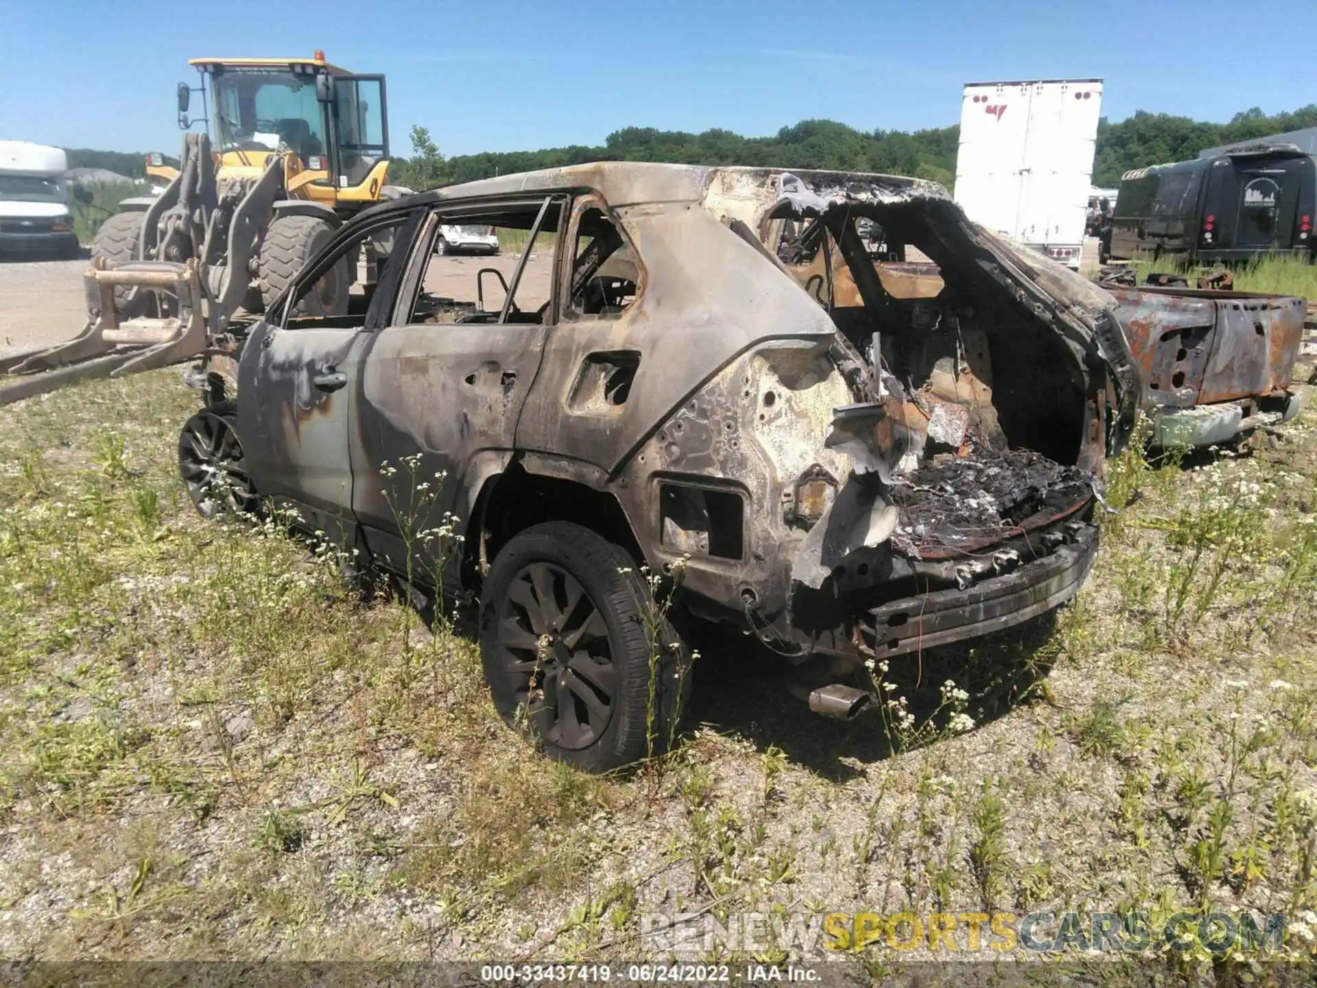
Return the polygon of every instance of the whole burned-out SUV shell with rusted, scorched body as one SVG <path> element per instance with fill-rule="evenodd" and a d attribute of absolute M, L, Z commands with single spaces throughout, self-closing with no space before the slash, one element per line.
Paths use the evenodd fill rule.
<path fill-rule="evenodd" d="M 861 221 L 936 265 L 936 290 L 876 265 Z M 524 248 L 477 270 L 435 252 L 454 224 Z M 327 311 L 319 286 L 363 242 L 386 257 L 373 290 Z M 183 476 L 203 512 L 224 478 L 385 570 L 431 551 L 403 531 L 414 508 L 456 515 L 441 582 L 479 599 L 498 710 L 608 769 L 668 736 L 673 626 L 752 632 L 817 671 L 811 706 L 852 714 L 865 660 L 1073 597 L 1138 397 L 1109 304 L 927 182 L 506 175 L 338 231 L 211 357 Z M 398 491 L 403 461 L 423 482 Z"/>

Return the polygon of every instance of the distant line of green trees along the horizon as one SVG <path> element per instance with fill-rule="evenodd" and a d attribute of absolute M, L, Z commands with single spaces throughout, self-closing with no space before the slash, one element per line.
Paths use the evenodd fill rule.
<path fill-rule="evenodd" d="M 1168 113 L 1139 111 L 1127 120 L 1102 120 L 1097 128 L 1093 184 L 1114 186 L 1129 169 L 1197 157 L 1204 148 L 1267 134 L 1317 126 L 1317 105 L 1267 116 L 1254 108 L 1235 113 L 1227 124 L 1210 124 Z M 628 126 L 603 145 L 570 145 L 535 151 L 486 151 L 444 158 L 416 128 L 421 144 L 414 157 L 400 158 L 392 180 L 412 188 L 471 182 L 510 171 L 578 165 L 589 161 L 668 161 L 687 165 L 760 165 L 795 169 L 840 169 L 914 175 L 951 186 L 956 173 L 959 126 L 903 133 L 856 130 L 832 120 L 802 120 L 772 137 L 741 137 L 731 130 L 656 130 Z M 437 136 L 440 142 L 443 136 Z M 166 149 L 162 149 L 166 150 Z M 398 149 L 402 150 L 402 149 Z M 130 178 L 145 175 L 144 155 L 122 151 L 68 149 L 70 167 L 101 167 Z"/>

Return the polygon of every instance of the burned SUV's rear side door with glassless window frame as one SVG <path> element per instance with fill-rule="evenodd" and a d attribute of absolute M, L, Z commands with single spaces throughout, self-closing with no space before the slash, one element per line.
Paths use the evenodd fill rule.
<path fill-rule="evenodd" d="M 389 325 L 370 333 L 353 433 L 353 510 L 378 561 L 420 582 L 465 528 L 485 477 L 514 449 L 516 422 L 556 319 L 564 199 L 433 207 Z M 441 225 L 493 231 L 456 253 Z M 456 515 L 445 519 L 445 512 Z M 456 566 L 443 573 L 456 589 Z"/>

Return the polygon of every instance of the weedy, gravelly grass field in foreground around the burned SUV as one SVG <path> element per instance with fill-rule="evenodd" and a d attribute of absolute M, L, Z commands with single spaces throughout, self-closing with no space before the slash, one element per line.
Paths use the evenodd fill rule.
<path fill-rule="evenodd" d="M 963 690 L 973 730 L 822 721 L 719 640 L 678 751 L 598 779 L 502 725 L 469 639 L 277 527 L 199 519 L 173 466 L 192 400 L 165 370 L 4 412 L 3 956 L 658 959 L 648 913 L 834 910 L 1250 909 L 1312 948 L 1312 411 L 1252 454 L 1112 461 L 1076 605 L 892 669 L 892 709 Z M 769 941 L 701 956 L 797 956 Z M 976 956 L 1026 955 L 1073 956 Z M 1104 975 L 1251 962 L 1141 956 Z"/>

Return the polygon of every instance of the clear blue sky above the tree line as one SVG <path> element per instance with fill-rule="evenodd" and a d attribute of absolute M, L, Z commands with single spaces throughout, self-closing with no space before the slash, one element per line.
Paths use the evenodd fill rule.
<path fill-rule="evenodd" d="M 1106 80 L 1104 115 L 1226 120 L 1317 103 L 1313 0 L 0 0 L 0 138 L 180 145 L 198 55 L 309 55 L 389 76 L 394 149 L 599 144 L 626 125 L 759 136 L 806 117 L 956 123 L 960 86 Z M 1147 30 L 1142 30 L 1146 25 Z M 1288 55 L 1287 55 L 1288 50 Z"/>

